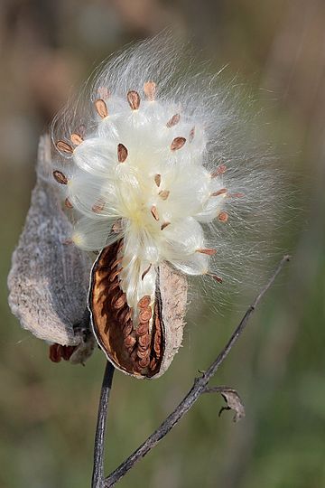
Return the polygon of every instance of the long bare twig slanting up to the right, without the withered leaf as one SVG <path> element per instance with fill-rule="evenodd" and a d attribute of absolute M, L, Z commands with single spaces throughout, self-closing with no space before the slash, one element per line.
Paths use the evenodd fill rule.
<path fill-rule="evenodd" d="M 219 366 L 223 361 L 225 361 L 228 353 L 231 351 L 235 343 L 237 343 L 241 333 L 243 333 L 250 316 L 255 311 L 255 307 L 259 305 L 267 290 L 274 284 L 274 280 L 282 270 L 283 265 L 289 260 L 290 256 L 284 256 L 282 258 L 278 267 L 276 267 L 273 276 L 256 296 L 255 301 L 246 311 L 246 314 L 242 318 L 241 322 L 237 325 L 237 328 L 235 329 L 234 333 L 232 333 L 224 349 L 218 354 L 217 359 L 212 362 L 208 370 L 205 371 L 200 378 L 196 378 L 194 380 L 192 388 L 184 399 L 181 400 L 178 407 L 176 407 L 172 414 L 163 421 L 161 426 L 158 427 L 157 430 L 155 430 L 153 434 L 144 441 L 144 444 L 139 446 L 135 452 L 125 460 L 124 463 L 119 465 L 115 471 L 109 474 L 109 476 L 104 480 L 102 488 L 110 488 L 111 486 L 114 486 L 117 481 L 120 480 L 135 465 L 135 463 L 142 459 L 144 455 L 148 454 L 148 452 L 151 451 L 153 447 L 156 446 L 158 442 L 164 436 L 166 436 L 166 434 L 168 434 L 168 432 L 170 432 L 170 430 L 172 430 L 172 427 L 174 427 L 181 420 L 181 418 L 190 410 L 196 400 L 200 398 L 200 395 L 205 392 L 209 380 L 211 380 L 211 378 L 218 371 Z M 100 411 L 99 414 L 102 416 Z M 95 486 L 96 488 L 99 488 L 100 485 L 93 485 L 93 487 Z"/>

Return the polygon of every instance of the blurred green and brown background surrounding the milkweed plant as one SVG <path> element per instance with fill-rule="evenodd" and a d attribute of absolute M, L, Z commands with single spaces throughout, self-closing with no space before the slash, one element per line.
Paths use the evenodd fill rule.
<path fill-rule="evenodd" d="M 293 259 L 214 380 L 238 389 L 246 418 L 237 425 L 231 413 L 218 418 L 222 399 L 204 396 L 120 486 L 325 486 L 324 25 L 323 0 L 1 1 L 1 487 L 89 486 L 105 365 L 99 351 L 85 368 L 51 363 L 46 344 L 23 331 L 7 305 L 39 135 L 98 61 L 166 26 L 213 70 L 228 64 L 227 76 L 268 94 L 270 130 L 296 195 L 276 239 Z M 266 262 L 270 272 L 274 262 Z M 240 292 L 221 314 L 191 312 L 181 353 L 161 380 L 116 373 L 107 472 L 217 355 L 254 296 L 245 284 Z"/>

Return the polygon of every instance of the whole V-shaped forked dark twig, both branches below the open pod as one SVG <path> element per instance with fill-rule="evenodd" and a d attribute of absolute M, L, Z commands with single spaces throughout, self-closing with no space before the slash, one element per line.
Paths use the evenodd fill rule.
<path fill-rule="evenodd" d="M 110 488 L 114 486 L 144 455 L 148 454 L 158 442 L 172 430 L 181 418 L 190 410 L 193 404 L 200 398 L 202 393 L 207 392 L 207 385 L 209 380 L 218 371 L 219 366 L 228 356 L 241 333 L 246 328 L 246 324 L 250 316 L 254 313 L 255 307 L 259 305 L 262 298 L 265 296 L 267 290 L 274 284 L 275 278 L 278 276 L 283 268 L 283 265 L 290 260 L 290 256 L 284 256 L 276 267 L 273 276 L 269 279 L 267 284 L 262 288 L 260 293 L 256 296 L 255 301 L 246 311 L 240 323 L 237 325 L 234 333 L 232 333 L 228 343 L 223 350 L 218 354 L 218 357 L 209 366 L 200 378 L 194 380 L 194 384 L 181 403 L 176 407 L 173 412 L 163 421 L 160 427 L 158 427 L 151 436 L 149 436 L 144 443 L 139 446 L 135 452 L 130 455 L 121 465 L 119 465 L 115 471 L 113 471 L 107 478 L 103 478 L 103 452 L 104 452 L 104 435 L 105 435 L 105 418 L 107 415 L 108 395 L 111 388 L 111 380 L 113 376 L 113 366 L 107 365 L 107 370 L 104 376 L 103 387 L 101 391 L 101 397 L 98 410 L 98 427 L 96 434 L 96 446 L 94 456 L 94 476 L 92 488 Z M 111 371 L 111 373 L 109 373 Z M 108 385 L 108 387 L 107 387 Z M 96 483 L 94 483 L 94 479 Z"/>

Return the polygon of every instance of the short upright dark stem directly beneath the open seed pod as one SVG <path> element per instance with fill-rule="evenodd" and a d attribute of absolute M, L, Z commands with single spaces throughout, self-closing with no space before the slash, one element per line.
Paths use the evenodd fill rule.
<path fill-rule="evenodd" d="M 92 474 L 91 488 L 102 488 L 104 482 L 105 431 L 107 424 L 108 400 L 110 390 L 112 389 L 113 375 L 114 366 L 109 361 L 107 361 L 103 383 L 100 390 L 98 422 L 95 434 L 94 468 Z"/>

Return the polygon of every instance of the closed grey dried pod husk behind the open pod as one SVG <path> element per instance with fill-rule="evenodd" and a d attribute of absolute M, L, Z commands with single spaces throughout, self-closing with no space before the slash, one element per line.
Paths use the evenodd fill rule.
<path fill-rule="evenodd" d="M 31 207 L 8 277 L 9 305 L 24 329 L 49 343 L 75 347 L 71 362 L 83 362 L 94 347 L 84 319 L 91 262 L 67 245 L 71 224 L 51 183 L 51 169 L 51 142 L 44 136 Z"/>

